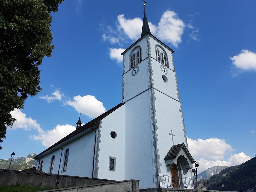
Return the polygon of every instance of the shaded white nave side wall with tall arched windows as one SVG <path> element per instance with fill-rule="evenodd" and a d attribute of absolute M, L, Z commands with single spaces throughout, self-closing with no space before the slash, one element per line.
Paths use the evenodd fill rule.
<path fill-rule="evenodd" d="M 92 130 L 86 135 L 83 135 L 77 138 L 75 141 L 72 141 L 64 145 L 65 148 L 63 149 L 63 152 L 62 152 L 61 163 L 60 163 L 61 149 L 57 149 L 54 152 L 45 155 L 44 157 L 40 158 L 40 162 L 42 160 L 44 161 L 42 171 L 44 171 L 45 173 L 49 173 L 51 158 L 52 158 L 52 155 L 55 155 L 55 161 L 54 161 L 54 166 L 52 170 L 53 174 L 58 174 L 59 163 L 60 163 L 60 171 L 59 171 L 60 175 L 92 177 L 94 140 L 95 140 L 95 132 Z M 67 148 L 69 148 L 67 171 L 62 172 L 63 158 Z"/>

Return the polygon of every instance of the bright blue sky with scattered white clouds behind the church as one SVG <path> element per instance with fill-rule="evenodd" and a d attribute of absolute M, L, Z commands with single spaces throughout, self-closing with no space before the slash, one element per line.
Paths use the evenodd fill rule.
<path fill-rule="evenodd" d="M 199 171 L 255 156 L 255 0 L 147 1 L 154 36 L 172 48 L 189 151 Z M 143 2 L 65 0 L 42 91 L 12 112 L 0 158 L 42 152 L 122 102 L 122 50 L 141 34 Z"/>

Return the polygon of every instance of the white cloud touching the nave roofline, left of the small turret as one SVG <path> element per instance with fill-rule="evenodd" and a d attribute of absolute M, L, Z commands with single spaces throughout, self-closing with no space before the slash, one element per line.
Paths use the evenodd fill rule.
<path fill-rule="evenodd" d="M 34 135 L 33 137 L 30 137 L 34 140 L 41 141 L 42 145 L 45 147 L 50 147 L 51 145 L 58 142 L 63 137 L 67 136 L 71 132 L 76 130 L 76 127 L 72 125 L 60 125 L 58 124 L 54 129 L 44 131 L 42 133 L 39 133 L 37 136 Z"/>

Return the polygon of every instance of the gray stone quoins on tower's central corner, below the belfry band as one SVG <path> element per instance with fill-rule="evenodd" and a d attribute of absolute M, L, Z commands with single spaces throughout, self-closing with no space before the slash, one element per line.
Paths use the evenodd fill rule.
<path fill-rule="evenodd" d="M 152 86 L 154 85 L 153 81 L 153 72 L 152 72 L 152 59 L 151 57 L 149 57 L 147 59 L 148 61 L 148 79 L 149 79 L 149 86 L 150 88 L 152 88 Z M 158 175 L 161 173 L 161 169 L 160 167 L 162 166 L 162 164 L 160 163 L 160 155 L 158 154 L 159 152 L 159 149 L 157 147 L 157 125 L 156 125 L 156 110 L 155 110 L 155 100 L 156 100 L 156 97 L 155 97 L 155 90 L 154 89 L 150 89 L 151 90 L 151 95 L 150 95 L 150 99 L 151 99 L 151 102 L 150 102 L 150 106 L 151 106 L 151 124 L 152 124 L 152 137 L 153 137 L 153 146 L 154 146 L 154 155 L 155 155 L 155 159 L 154 159 L 154 163 L 155 163 L 155 170 L 156 170 L 156 173 L 155 173 L 155 179 L 156 179 L 156 182 L 155 182 L 155 186 L 158 187 L 159 185 L 159 178 L 158 178 Z"/>

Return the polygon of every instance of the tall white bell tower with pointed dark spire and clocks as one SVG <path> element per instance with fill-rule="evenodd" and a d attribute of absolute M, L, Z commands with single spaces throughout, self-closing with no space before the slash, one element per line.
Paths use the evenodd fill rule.
<path fill-rule="evenodd" d="M 188 152 L 174 51 L 151 34 L 143 6 L 141 38 L 122 53 L 125 179 L 152 175 L 140 183 L 141 188 L 159 187 L 159 175 L 171 176 L 173 166 L 183 170 L 177 176 L 192 177 L 188 170 L 194 163 Z M 177 156 L 170 156 L 173 151 Z"/>

